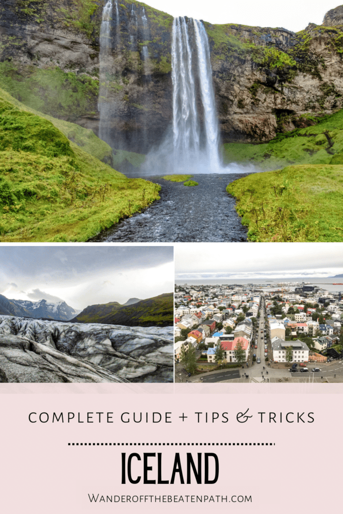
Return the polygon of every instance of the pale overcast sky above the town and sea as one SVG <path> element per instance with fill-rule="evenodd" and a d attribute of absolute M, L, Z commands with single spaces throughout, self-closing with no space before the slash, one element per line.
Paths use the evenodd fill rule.
<path fill-rule="evenodd" d="M 343 243 L 194 243 L 175 245 L 175 278 L 329 277 L 343 273 Z"/>

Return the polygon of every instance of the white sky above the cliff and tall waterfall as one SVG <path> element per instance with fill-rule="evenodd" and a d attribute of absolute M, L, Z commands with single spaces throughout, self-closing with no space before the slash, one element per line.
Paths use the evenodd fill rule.
<path fill-rule="evenodd" d="M 283 27 L 293 32 L 303 30 L 310 22 L 321 25 L 324 14 L 340 5 L 337 1 L 319 0 L 147 0 L 145 3 L 172 16 L 189 16 L 218 24 Z"/>

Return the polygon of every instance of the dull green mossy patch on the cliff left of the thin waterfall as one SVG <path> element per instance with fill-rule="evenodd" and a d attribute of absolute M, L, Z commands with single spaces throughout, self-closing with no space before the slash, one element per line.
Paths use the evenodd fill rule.
<path fill-rule="evenodd" d="M 0 87 L 28 107 L 55 118 L 74 121 L 97 112 L 99 80 L 59 67 L 21 67 L 0 63 Z"/>

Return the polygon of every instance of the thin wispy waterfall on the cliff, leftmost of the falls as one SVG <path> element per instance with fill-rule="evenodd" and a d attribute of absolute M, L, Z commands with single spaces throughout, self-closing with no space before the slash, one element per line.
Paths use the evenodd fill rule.
<path fill-rule="evenodd" d="M 103 141 L 108 139 L 106 119 L 108 116 L 107 96 L 109 93 L 108 72 L 110 54 L 112 48 L 111 22 L 113 4 L 108 0 L 102 11 L 102 22 L 100 27 L 100 53 L 99 53 L 99 101 L 98 110 L 100 114 L 99 138 Z M 108 142 L 108 141 L 106 141 Z"/>

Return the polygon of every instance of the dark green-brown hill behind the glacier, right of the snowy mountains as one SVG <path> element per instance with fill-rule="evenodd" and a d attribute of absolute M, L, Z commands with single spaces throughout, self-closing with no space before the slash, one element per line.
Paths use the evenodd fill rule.
<path fill-rule="evenodd" d="M 125 326 L 171 326 L 173 314 L 173 293 L 165 293 L 147 300 L 131 298 L 124 305 L 118 302 L 89 305 L 70 321 Z"/>

